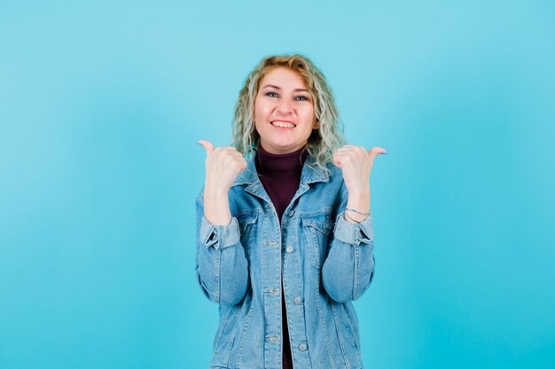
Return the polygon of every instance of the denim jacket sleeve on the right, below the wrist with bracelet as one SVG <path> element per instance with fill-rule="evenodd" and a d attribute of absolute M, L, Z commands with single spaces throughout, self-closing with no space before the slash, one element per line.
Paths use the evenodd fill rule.
<path fill-rule="evenodd" d="M 368 289 L 374 275 L 374 234 L 371 214 L 361 223 L 343 218 L 348 192 L 341 197 L 332 240 L 322 267 L 324 289 L 339 303 L 356 300 Z"/>

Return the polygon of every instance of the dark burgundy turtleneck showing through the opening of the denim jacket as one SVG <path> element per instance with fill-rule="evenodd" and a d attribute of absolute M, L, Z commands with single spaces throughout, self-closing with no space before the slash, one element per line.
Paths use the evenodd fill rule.
<path fill-rule="evenodd" d="M 270 196 L 270 200 L 277 211 L 277 219 L 281 224 L 281 217 L 301 182 L 302 163 L 307 158 L 308 151 L 297 150 L 288 154 L 271 154 L 258 144 L 256 154 L 256 171 L 260 174 L 260 181 Z M 282 271 L 283 273 L 283 271 Z M 283 369 L 293 369 L 291 343 L 289 342 L 289 328 L 287 327 L 287 311 L 285 310 L 285 293 L 283 283 L 281 289 L 281 311 L 283 327 Z"/>

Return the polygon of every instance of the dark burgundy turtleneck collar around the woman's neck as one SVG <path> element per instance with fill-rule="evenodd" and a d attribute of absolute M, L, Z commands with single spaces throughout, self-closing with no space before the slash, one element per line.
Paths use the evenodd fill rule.
<path fill-rule="evenodd" d="M 286 181 L 290 178 L 301 178 L 302 165 L 309 151 L 306 146 L 287 154 L 271 154 L 258 142 L 256 154 L 256 170 L 273 181 Z"/>

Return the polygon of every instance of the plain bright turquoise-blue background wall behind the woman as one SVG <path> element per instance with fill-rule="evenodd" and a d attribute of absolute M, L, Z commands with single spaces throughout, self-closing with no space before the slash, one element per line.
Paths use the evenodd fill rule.
<path fill-rule="evenodd" d="M 295 51 L 389 151 L 366 367 L 555 367 L 555 4 L 89 3 L 0 1 L 2 369 L 207 367 L 196 142 Z"/>

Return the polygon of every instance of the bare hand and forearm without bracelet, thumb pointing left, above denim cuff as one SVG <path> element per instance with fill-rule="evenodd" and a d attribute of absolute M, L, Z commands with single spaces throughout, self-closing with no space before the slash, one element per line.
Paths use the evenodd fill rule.
<path fill-rule="evenodd" d="M 204 185 L 204 216 L 212 224 L 231 223 L 228 191 L 233 181 L 246 168 L 246 160 L 231 146 L 214 148 L 208 141 L 199 140 L 207 150 L 207 175 Z"/>

